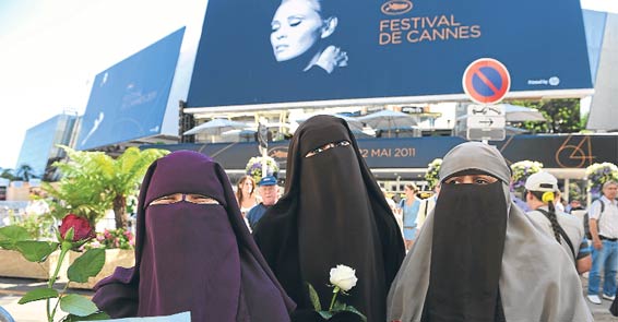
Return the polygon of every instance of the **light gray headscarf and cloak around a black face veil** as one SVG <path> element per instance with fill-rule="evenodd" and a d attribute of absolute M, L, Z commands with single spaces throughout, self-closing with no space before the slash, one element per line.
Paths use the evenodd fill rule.
<path fill-rule="evenodd" d="M 440 180 L 459 171 L 478 169 L 499 178 L 511 204 L 510 168 L 494 146 L 468 142 L 443 158 Z M 499 289 L 509 322 L 593 321 L 571 259 L 560 245 L 537 230 L 518 206 L 509 206 Z M 388 321 L 420 321 L 429 287 L 433 212 L 405 258 L 388 298 Z M 449 263 L 441 263 L 449 265 Z"/>

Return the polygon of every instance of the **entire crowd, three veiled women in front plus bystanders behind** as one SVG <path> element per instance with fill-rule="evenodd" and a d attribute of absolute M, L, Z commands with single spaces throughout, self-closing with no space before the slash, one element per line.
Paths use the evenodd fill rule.
<path fill-rule="evenodd" d="M 556 207 L 554 176 L 527 179 L 526 213 L 507 162 L 484 143 L 443 157 L 432 196 L 408 184 L 394 205 L 345 120 L 305 121 L 288 151 L 281 199 L 272 176 L 242 177 L 235 193 L 200 153 L 153 163 L 135 266 L 102 281 L 95 303 L 112 318 L 189 311 L 192 321 L 580 322 L 593 321 L 580 281 L 589 270 L 587 299 L 615 299 L 617 182 L 590 207 L 589 241 L 583 220 Z M 329 272 L 340 264 L 358 281 L 340 300 L 363 317 L 317 312 L 333 308 Z"/>

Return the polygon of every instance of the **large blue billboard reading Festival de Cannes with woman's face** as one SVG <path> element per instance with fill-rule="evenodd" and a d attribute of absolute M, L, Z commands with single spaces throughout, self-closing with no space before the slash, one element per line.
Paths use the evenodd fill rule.
<path fill-rule="evenodd" d="M 465 99 L 484 57 L 507 97 L 592 93 L 579 0 L 210 0 L 188 106 Z"/>

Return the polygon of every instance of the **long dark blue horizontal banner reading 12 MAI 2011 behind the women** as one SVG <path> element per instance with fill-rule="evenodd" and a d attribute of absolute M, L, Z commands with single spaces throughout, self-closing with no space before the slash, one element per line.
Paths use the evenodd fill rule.
<path fill-rule="evenodd" d="M 427 168 L 451 148 L 465 142 L 459 136 L 357 140 L 360 154 L 371 169 Z M 286 168 L 287 141 L 269 142 L 269 156 Z M 536 160 L 545 168 L 586 168 L 594 163 L 618 160 L 618 135 L 514 135 L 490 142 L 509 165 Z M 142 148 L 192 150 L 213 157 L 227 170 L 245 169 L 249 158 L 259 155 L 258 142 L 185 143 L 144 145 Z"/>

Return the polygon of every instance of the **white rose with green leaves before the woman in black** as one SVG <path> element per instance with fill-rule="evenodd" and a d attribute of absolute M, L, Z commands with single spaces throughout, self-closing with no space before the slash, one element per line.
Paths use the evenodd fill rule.
<path fill-rule="evenodd" d="M 356 278 L 356 271 L 346 265 L 337 265 L 336 267 L 331 269 L 330 282 L 331 285 L 329 286 L 333 287 L 333 297 L 331 298 L 329 309 L 322 310 L 318 293 L 311 284 L 307 283 L 309 288 L 309 298 L 316 311 L 295 312 L 292 321 L 367 321 L 367 318 L 355 307 L 348 306 L 337 299 L 340 294 L 342 296 L 346 296 L 348 295 L 347 291 L 356 286 L 356 282 L 358 282 L 358 278 Z"/>

